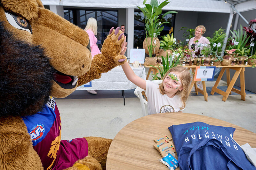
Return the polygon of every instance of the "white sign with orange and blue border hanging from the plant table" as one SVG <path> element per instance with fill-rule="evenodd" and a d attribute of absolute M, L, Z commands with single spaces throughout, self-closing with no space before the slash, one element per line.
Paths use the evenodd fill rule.
<path fill-rule="evenodd" d="M 215 66 L 198 66 L 196 67 L 194 81 L 211 81 L 214 78 Z"/>

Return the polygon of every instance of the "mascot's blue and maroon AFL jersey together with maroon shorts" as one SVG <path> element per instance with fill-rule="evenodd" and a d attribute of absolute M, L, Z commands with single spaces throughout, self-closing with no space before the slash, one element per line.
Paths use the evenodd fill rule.
<path fill-rule="evenodd" d="M 52 97 L 41 112 L 22 117 L 22 119 L 44 169 L 66 169 L 78 159 L 87 156 L 88 143 L 85 138 L 60 140 L 60 113 Z"/>

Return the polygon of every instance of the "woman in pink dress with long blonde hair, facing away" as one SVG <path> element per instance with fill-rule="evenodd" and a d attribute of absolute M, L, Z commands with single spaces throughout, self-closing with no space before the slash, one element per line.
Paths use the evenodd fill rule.
<path fill-rule="evenodd" d="M 92 58 L 96 54 L 101 54 L 100 49 L 99 49 L 98 45 L 96 44 L 98 41 L 98 39 L 95 37 L 95 35 L 97 35 L 97 29 L 98 29 L 97 20 L 94 18 L 89 18 L 84 30 L 89 35 Z M 95 90 L 87 90 L 87 92 L 92 93 L 92 94 L 97 94 L 97 92 Z"/>

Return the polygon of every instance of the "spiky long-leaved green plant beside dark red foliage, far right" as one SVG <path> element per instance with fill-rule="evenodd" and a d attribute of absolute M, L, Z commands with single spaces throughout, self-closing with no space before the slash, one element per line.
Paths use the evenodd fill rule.
<path fill-rule="evenodd" d="M 238 44 L 235 45 L 234 43 L 231 43 L 228 49 L 236 48 L 236 49 L 242 50 L 245 47 L 247 41 L 250 39 L 250 36 L 247 37 L 246 33 L 243 33 L 242 25 L 240 25 L 240 29 L 238 29 L 237 31 L 233 30 L 233 32 L 232 31 L 230 32 L 234 36 L 234 39 L 236 40 L 236 42 L 238 42 Z M 230 38 L 231 40 L 233 40 L 231 36 Z"/>

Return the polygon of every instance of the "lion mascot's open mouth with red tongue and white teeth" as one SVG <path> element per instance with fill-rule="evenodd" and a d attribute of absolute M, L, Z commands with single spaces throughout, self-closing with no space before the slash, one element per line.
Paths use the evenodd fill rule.
<path fill-rule="evenodd" d="M 78 76 L 69 76 L 55 70 L 54 81 L 64 89 L 73 89 L 76 87 Z"/>

